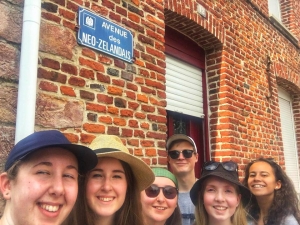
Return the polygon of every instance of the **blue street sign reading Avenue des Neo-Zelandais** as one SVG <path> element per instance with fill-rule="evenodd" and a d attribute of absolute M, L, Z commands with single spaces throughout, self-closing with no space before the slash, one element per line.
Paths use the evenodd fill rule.
<path fill-rule="evenodd" d="M 77 42 L 132 63 L 133 36 L 116 23 L 79 7 Z"/>

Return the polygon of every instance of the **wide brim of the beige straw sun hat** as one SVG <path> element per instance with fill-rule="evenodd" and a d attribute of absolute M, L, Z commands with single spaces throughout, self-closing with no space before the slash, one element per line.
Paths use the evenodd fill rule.
<path fill-rule="evenodd" d="M 141 159 L 113 148 L 95 149 L 94 152 L 98 158 L 112 157 L 128 163 L 140 191 L 146 189 L 154 182 L 155 176 L 151 168 Z"/>

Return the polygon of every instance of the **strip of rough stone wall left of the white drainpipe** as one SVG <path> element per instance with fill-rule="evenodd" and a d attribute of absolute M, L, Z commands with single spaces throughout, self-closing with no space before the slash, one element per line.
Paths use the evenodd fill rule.
<path fill-rule="evenodd" d="M 14 144 L 23 1 L 0 2 L 0 169 Z"/>

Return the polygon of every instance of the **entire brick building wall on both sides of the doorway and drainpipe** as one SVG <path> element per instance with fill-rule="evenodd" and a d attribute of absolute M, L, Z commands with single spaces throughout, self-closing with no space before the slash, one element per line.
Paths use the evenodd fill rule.
<path fill-rule="evenodd" d="M 299 39 L 299 1 L 286 2 L 283 22 Z M 133 33 L 133 64 L 77 44 L 79 6 Z M 13 144 L 22 7 L 0 3 L 2 161 Z M 241 168 L 261 155 L 284 164 L 277 85 L 295 99 L 300 146 L 300 57 L 268 20 L 267 0 L 42 1 L 36 130 L 59 129 L 85 145 L 97 134 L 115 134 L 148 164 L 165 165 L 165 25 L 205 50 L 212 157 Z"/>

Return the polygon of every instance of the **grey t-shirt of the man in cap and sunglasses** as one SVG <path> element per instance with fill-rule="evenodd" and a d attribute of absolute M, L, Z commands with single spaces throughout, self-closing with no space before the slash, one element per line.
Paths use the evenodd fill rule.
<path fill-rule="evenodd" d="M 193 225 L 195 221 L 195 206 L 190 192 L 179 192 L 178 205 L 181 211 L 182 225 Z"/>

